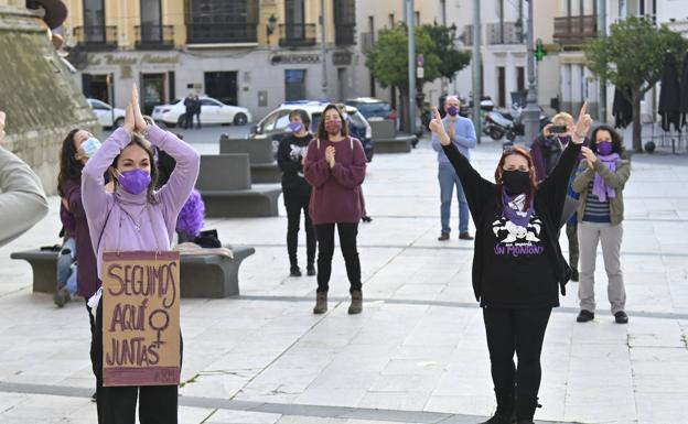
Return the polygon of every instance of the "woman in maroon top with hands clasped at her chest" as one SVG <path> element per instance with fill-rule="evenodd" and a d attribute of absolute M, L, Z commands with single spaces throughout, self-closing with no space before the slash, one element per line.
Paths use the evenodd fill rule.
<path fill-rule="evenodd" d="M 327 311 L 327 291 L 334 253 L 334 227 L 351 283 L 350 314 L 363 308 L 361 261 L 356 249 L 358 222 L 363 216 L 361 184 L 366 157 L 361 141 L 348 135 L 335 105 L 327 105 L 318 126 L 318 138 L 309 144 L 303 162 L 305 180 L 313 186 L 310 214 L 318 237 L 318 292 L 313 313 Z"/>

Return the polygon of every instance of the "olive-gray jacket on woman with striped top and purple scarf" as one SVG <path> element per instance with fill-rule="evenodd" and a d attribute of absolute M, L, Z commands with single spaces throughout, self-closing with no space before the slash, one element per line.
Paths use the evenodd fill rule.
<path fill-rule="evenodd" d="M 578 221 L 583 220 L 585 215 L 585 204 L 588 203 L 588 186 L 594 177 L 595 173 L 599 173 L 606 185 L 616 191 L 616 197 L 610 198 L 610 220 L 613 226 L 623 221 L 623 189 L 631 176 L 631 162 L 625 159 L 616 161 L 616 171 L 611 172 L 602 161 L 598 160 L 594 163 L 594 167 L 591 170 L 588 167 L 588 161 L 581 161 L 578 174 L 571 184 L 573 192 L 580 193 L 580 202 L 578 203 Z"/>

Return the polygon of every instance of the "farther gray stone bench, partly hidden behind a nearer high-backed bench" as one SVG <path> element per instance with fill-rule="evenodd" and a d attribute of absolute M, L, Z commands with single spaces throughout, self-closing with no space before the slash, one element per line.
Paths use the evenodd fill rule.
<path fill-rule="evenodd" d="M 248 154 L 251 181 L 255 184 L 279 183 L 282 178 L 282 172 L 275 160 L 271 139 L 230 139 L 223 134 L 219 138 L 219 153 Z"/>

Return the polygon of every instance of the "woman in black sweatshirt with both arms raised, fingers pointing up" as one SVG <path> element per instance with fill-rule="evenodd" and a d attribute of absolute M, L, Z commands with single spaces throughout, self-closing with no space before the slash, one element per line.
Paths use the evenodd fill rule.
<path fill-rule="evenodd" d="M 522 148 L 502 154 L 488 182 L 450 142 L 434 108 L 430 130 L 456 170 L 475 220 L 473 291 L 483 308 L 495 415 L 484 424 L 531 424 L 540 387 L 540 352 L 552 307 L 571 269 L 558 235 L 569 177 L 592 119 L 583 105 L 572 143 L 555 170 L 537 184 L 533 159 Z M 514 366 L 518 356 L 518 369 Z"/>

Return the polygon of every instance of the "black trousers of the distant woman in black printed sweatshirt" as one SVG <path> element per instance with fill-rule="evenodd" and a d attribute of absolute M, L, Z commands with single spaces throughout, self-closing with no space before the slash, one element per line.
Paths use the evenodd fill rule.
<path fill-rule="evenodd" d="M 301 191 L 283 191 L 284 207 L 287 208 L 287 252 L 289 253 L 289 263 L 292 267 L 299 265 L 299 229 L 301 226 L 301 210 L 304 216 L 305 227 L 305 254 L 308 264 L 315 263 L 315 228 L 309 215 L 309 205 L 311 203 L 311 194 Z"/>

